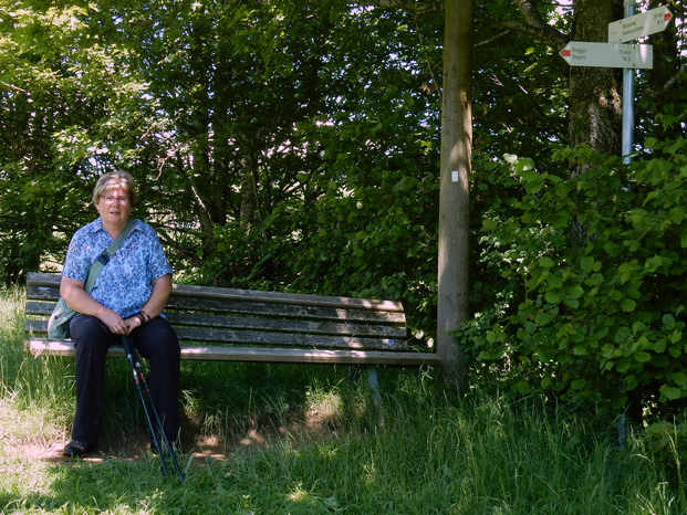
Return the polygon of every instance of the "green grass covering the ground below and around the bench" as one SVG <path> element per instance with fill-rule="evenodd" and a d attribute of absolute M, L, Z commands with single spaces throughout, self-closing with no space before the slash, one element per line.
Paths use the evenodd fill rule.
<path fill-rule="evenodd" d="M 365 376 L 345 368 L 185 362 L 179 483 L 133 452 L 145 429 L 124 361 L 111 360 L 101 459 L 31 459 L 18 450 L 67 438 L 73 369 L 23 354 L 22 303 L 0 295 L 2 513 L 687 513 L 679 424 L 618 449 L 597 413 L 457 402 L 426 370 L 381 371 L 378 425 Z M 204 439 L 227 459 L 194 459 Z"/>

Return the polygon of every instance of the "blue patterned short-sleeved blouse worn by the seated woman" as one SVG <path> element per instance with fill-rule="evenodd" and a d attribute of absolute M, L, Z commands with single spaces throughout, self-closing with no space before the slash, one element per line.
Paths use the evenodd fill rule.
<path fill-rule="evenodd" d="M 100 218 L 79 229 L 66 251 L 62 275 L 85 283 L 91 263 L 112 241 Z M 132 233 L 101 270 L 91 296 L 126 318 L 148 301 L 153 293 L 150 283 L 166 274 L 171 274 L 171 266 L 155 230 L 135 220 Z"/>

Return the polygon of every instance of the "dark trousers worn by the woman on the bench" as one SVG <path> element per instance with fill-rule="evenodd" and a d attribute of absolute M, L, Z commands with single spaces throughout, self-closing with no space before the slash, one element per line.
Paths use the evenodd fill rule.
<path fill-rule="evenodd" d="M 72 440 L 94 446 L 103 417 L 103 389 L 107 347 L 119 344 L 97 318 L 76 315 L 70 323 L 70 333 L 76 344 L 74 356 L 76 375 L 76 413 Z M 138 353 L 148 359 L 150 397 L 163 420 L 170 442 L 177 438 L 177 391 L 179 383 L 179 341 L 169 323 L 153 318 L 129 335 Z"/>

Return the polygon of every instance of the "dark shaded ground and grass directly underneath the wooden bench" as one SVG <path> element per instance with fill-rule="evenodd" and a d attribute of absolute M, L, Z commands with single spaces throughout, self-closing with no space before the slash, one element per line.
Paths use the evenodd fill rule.
<path fill-rule="evenodd" d="M 64 362 L 59 365 L 62 380 L 73 380 L 70 365 L 66 370 Z M 389 369 L 387 374 L 394 378 L 398 372 Z M 149 445 L 149 433 L 127 364 L 110 359 L 106 376 L 97 451 L 139 456 Z M 395 388 L 394 379 L 384 381 L 382 388 Z M 67 402 L 73 403 L 71 396 Z M 374 425 L 376 421 L 366 375 L 326 365 L 184 361 L 179 413 L 181 448 L 198 458 L 219 460 L 236 449 L 301 434 L 326 438 L 343 425 Z M 70 407 L 70 423 L 71 414 Z M 53 449 L 52 455 L 60 450 Z"/>

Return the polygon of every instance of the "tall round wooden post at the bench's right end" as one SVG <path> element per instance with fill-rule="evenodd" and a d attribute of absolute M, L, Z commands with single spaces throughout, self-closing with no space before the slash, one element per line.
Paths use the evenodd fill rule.
<path fill-rule="evenodd" d="M 446 1 L 444 31 L 437 353 L 445 381 L 465 391 L 465 353 L 450 332 L 468 317 L 472 0 Z"/>

